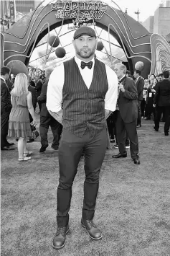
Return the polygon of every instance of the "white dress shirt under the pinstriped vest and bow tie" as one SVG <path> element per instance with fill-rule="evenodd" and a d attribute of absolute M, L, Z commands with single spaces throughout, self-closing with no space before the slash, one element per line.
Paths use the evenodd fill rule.
<path fill-rule="evenodd" d="M 75 62 L 80 70 L 82 79 L 85 81 L 88 89 L 93 79 L 94 63 L 93 58 L 92 69 L 88 69 L 85 66 L 85 69 L 81 69 L 81 60 L 75 57 Z M 115 71 L 110 69 L 109 66 L 105 65 L 106 74 L 108 78 L 108 91 L 105 94 L 105 110 L 115 111 L 115 105 L 118 96 L 118 77 L 115 74 Z M 62 109 L 62 88 L 65 82 L 65 69 L 64 64 L 57 66 L 52 74 L 49 76 L 49 82 L 47 87 L 47 110 L 52 112 L 59 112 Z"/>

